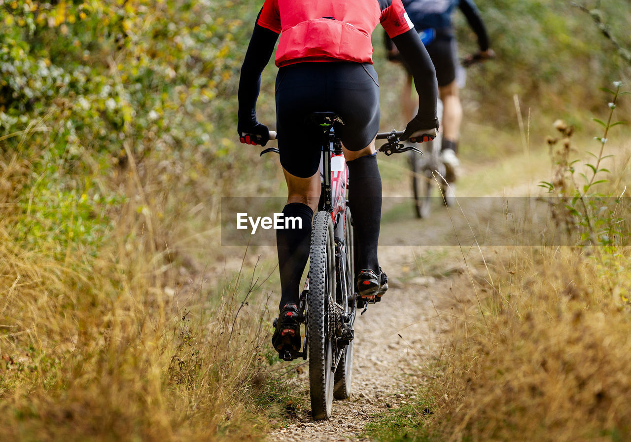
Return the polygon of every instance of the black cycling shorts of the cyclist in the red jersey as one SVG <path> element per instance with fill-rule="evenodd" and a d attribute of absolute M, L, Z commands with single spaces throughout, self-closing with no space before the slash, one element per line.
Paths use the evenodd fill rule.
<path fill-rule="evenodd" d="M 370 63 L 350 61 L 290 64 L 276 76 L 276 130 L 280 163 L 290 174 L 317 172 L 322 129 L 312 112 L 335 112 L 344 121 L 336 133 L 348 150 L 361 150 L 379 131 L 379 80 Z"/>

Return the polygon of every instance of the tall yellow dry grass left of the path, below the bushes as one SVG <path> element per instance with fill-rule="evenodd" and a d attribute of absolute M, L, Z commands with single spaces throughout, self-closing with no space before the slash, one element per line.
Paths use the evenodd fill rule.
<path fill-rule="evenodd" d="M 28 158 L 0 160 L 0 439 L 212 441 L 257 438 L 268 318 L 242 268 L 223 289 L 182 284 L 167 218 L 131 167 L 129 198 L 97 253 L 16 241 Z M 132 165 L 133 166 L 133 165 Z M 150 165 L 145 165 L 150 167 Z M 157 189 L 156 193 L 163 189 Z M 143 210 L 147 208 L 148 210 Z M 160 238 L 160 239 L 158 239 Z M 174 238 L 177 241 L 177 238 Z M 248 275 L 246 277 L 246 274 Z M 207 279 L 197 275 L 194 281 Z M 264 278 L 266 275 L 262 275 Z M 178 287 L 170 290 L 167 287 Z M 245 298 L 252 299 L 252 306 Z"/>

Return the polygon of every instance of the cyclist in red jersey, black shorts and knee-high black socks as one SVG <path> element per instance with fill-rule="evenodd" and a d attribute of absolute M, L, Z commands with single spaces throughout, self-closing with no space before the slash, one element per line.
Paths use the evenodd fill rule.
<path fill-rule="evenodd" d="M 379 81 L 372 66 L 370 35 L 386 29 L 401 56 L 413 66 L 418 114 L 403 140 L 435 136 L 438 95 L 435 69 L 401 0 L 265 0 L 245 54 L 239 81 L 242 143 L 266 145 L 269 131 L 257 121 L 261 73 L 276 40 L 276 124 L 280 162 L 288 187 L 285 217 L 301 229 L 276 230 L 281 280 L 280 314 L 272 337 L 278 352 L 300 350 L 297 321 L 300 278 L 309 258 L 311 222 L 320 197 L 319 132 L 305 121 L 312 112 L 335 112 L 344 121 L 340 137 L 349 172 L 349 206 L 357 237 L 358 295 L 387 289 L 377 260 L 381 178 L 375 153 L 379 131 Z"/>

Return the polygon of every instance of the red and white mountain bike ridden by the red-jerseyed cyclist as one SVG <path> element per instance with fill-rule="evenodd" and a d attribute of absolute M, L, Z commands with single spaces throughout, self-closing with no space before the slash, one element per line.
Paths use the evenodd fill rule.
<path fill-rule="evenodd" d="M 353 325 L 358 308 L 365 311 L 367 301 L 358 299 L 355 290 L 355 236 L 346 201 L 348 170 L 335 132 L 344 122 L 332 112 L 315 112 L 309 122 L 322 129 L 322 192 L 312 222 L 309 273 L 300 294 L 298 321 L 304 325 L 304 342 L 297 357 L 309 362 L 311 413 L 313 419 L 322 420 L 331 417 L 334 398 L 350 397 Z M 387 140 L 379 151 L 421 153 L 414 146 L 399 144 L 401 134 L 394 130 L 377 134 L 377 139 Z M 270 140 L 276 139 L 274 131 L 269 135 Z M 268 152 L 278 153 L 278 149 L 265 149 L 261 155 Z M 288 351 L 280 356 L 285 361 L 293 359 Z"/>

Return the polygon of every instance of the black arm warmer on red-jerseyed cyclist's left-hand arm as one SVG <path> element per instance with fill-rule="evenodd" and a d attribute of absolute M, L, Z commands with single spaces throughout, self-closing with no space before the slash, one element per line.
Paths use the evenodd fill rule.
<path fill-rule="evenodd" d="M 258 24 L 245 52 L 239 78 L 239 124 L 256 122 L 256 100 L 261 90 L 261 73 L 274 52 L 278 34 Z"/>

